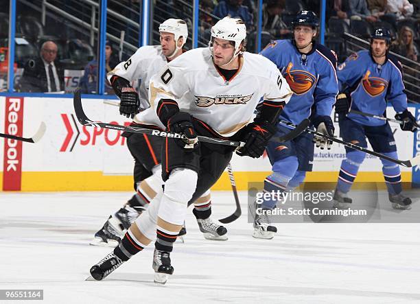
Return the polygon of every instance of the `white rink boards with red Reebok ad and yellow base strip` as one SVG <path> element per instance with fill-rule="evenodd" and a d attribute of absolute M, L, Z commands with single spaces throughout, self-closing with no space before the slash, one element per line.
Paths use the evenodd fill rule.
<path fill-rule="evenodd" d="M 90 119 L 118 124 L 129 124 L 115 106 L 104 100 L 84 99 L 84 109 Z M 411 107 L 419 120 L 420 107 Z M 388 106 L 388 117 L 395 111 Z M 4 97 L 0 96 L 0 132 L 16 132 L 30 137 L 41 121 L 47 131 L 39 143 L 16 143 L 0 139 L 0 185 L 3 191 L 96 191 L 132 189 L 133 161 L 126 139 L 120 131 L 102 130 L 78 124 L 73 111 L 73 100 L 64 97 Z M 397 143 L 399 159 L 410 159 L 420 153 L 420 135 L 403 132 L 397 124 L 390 124 Z M 5 130 L 8 128 L 8 130 Z M 336 135 L 338 135 L 336 122 Z M 315 150 L 314 172 L 307 181 L 334 182 L 340 163 L 345 157 L 342 145 L 331 150 Z M 232 166 L 239 189 L 248 182 L 264 180 L 270 172 L 270 163 L 261 159 L 233 156 Z M 366 156 L 356 182 L 381 182 L 382 164 L 375 157 Z M 403 181 L 419 182 L 418 167 L 401 167 Z M 227 174 L 213 189 L 228 190 Z"/>

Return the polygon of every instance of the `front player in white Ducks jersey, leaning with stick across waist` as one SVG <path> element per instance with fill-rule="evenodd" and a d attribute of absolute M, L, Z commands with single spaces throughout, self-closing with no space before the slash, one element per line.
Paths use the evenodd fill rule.
<path fill-rule="evenodd" d="M 198 142 L 197 135 L 244 141 L 237 153 L 258 158 L 276 132 L 276 121 L 292 91 L 274 63 L 244 51 L 246 27 L 225 17 L 211 28 L 209 48 L 188 51 L 150 80 L 149 122 L 185 135 L 165 138 L 163 191 L 141 213 L 121 244 L 90 272 L 101 280 L 130 257 L 154 243 L 154 281 L 174 272 L 170 260 L 187 203 L 211 187 L 231 160 L 233 148 Z M 261 98 L 261 111 L 253 113 Z"/>

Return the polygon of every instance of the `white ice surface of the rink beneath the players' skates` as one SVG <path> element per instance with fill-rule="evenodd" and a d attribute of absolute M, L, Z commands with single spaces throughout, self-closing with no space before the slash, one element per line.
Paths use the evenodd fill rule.
<path fill-rule="evenodd" d="M 226 242 L 204 239 L 187 213 L 166 285 L 153 283 L 153 246 L 84 281 L 111 250 L 89 241 L 131 195 L 0 193 L 0 289 L 43 289 L 43 303 L 60 304 L 420 303 L 420 224 L 277 224 L 274 239 L 254 239 L 245 192 Z M 212 196 L 215 219 L 233 213 L 231 192 Z"/>

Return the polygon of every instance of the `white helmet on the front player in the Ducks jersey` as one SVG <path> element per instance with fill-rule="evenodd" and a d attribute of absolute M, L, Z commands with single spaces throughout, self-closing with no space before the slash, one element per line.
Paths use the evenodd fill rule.
<path fill-rule="evenodd" d="M 235 42 L 235 56 L 240 53 L 240 45 L 246 38 L 246 26 L 240 18 L 229 16 L 211 27 L 211 37 Z"/>

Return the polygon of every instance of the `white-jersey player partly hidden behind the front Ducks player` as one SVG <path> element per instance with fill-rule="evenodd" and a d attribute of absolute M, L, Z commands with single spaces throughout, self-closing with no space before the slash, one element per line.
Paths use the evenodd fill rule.
<path fill-rule="evenodd" d="M 152 75 L 163 66 L 183 54 L 183 45 L 187 41 L 188 30 L 185 21 L 167 19 L 159 26 L 160 45 L 140 47 L 126 62 L 121 62 L 107 77 L 113 89 L 121 99 L 119 111 L 121 115 L 133 117 L 141 109 L 149 108 L 148 84 Z M 141 80 L 139 94 L 130 85 Z M 140 113 L 141 117 L 148 113 Z M 135 121 L 138 122 L 137 119 Z M 139 126 L 136 122 L 135 126 Z M 157 128 L 157 126 L 145 126 Z M 104 226 L 95 233 L 91 245 L 115 247 L 121 242 L 124 231 L 128 229 L 139 214 L 144 211 L 162 188 L 161 178 L 161 137 L 125 132 L 128 150 L 135 159 L 134 187 L 136 194 L 121 209 L 110 215 Z M 211 219 L 211 196 L 207 190 L 194 202 L 194 215 L 198 226 L 206 239 L 226 240 L 227 230 Z M 180 235 L 185 234 L 185 229 Z"/>

